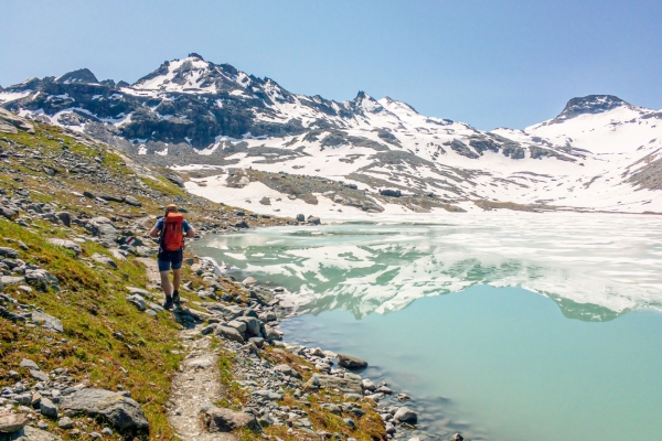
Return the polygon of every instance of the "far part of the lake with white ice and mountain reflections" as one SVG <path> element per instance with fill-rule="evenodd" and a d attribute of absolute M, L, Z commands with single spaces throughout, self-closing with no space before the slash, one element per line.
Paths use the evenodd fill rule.
<path fill-rule="evenodd" d="M 473 284 L 522 287 L 563 313 L 608 321 L 662 310 L 662 217 L 499 212 L 274 227 L 195 251 L 292 292 L 300 310 L 401 310 Z"/>

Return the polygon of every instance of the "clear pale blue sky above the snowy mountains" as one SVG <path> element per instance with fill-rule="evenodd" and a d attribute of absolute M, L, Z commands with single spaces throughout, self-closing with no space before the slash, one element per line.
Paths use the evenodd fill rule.
<path fill-rule="evenodd" d="M 357 90 L 480 129 L 575 96 L 662 108 L 662 1 L 6 1 L 0 85 L 88 67 L 129 83 L 196 52 L 335 100 Z"/>

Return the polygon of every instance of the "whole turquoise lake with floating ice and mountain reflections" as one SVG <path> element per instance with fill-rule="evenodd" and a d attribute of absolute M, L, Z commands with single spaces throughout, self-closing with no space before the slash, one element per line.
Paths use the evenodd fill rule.
<path fill-rule="evenodd" d="M 473 440 L 662 439 L 662 220 L 455 215 L 207 237 L 285 287 L 286 342 L 370 362 L 420 426 Z"/>

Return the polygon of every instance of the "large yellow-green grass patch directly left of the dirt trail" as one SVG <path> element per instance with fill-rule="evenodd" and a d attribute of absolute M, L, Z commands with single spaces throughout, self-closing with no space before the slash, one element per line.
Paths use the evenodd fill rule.
<path fill-rule="evenodd" d="M 149 438 L 173 439 L 163 409 L 171 376 L 182 358 L 172 353 L 180 348 L 175 338 L 179 325 L 170 313 L 153 319 L 125 300 L 126 286 L 145 287 L 142 265 L 130 258 L 118 261 L 117 269 L 89 268 L 73 251 L 50 245 L 42 235 L 4 219 L 0 219 L 0 237 L 25 243 L 30 250 L 21 251 L 21 258 L 49 270 L 61 287 L 60 291 L 25 293 L 7 289 L 6 292 L 58 318 L 65 330 L 64 334 L 53 334 L 41 327 L 21 329 L 3 321 L 0 369 L 4 373 L 15 369 L 21 358 L 28 357 L 45 372 L 66 367 L 78 380 L 97 387 L 117 390 L 122 385 L 142 405 L 150 421 Z M 15 245 L 0 239 L 0 246 Z M 94 243 L 84 244 L 83 249 L 83 258 L 107 252 Z M 117 332 L 124 340 L 114 336 Z M 60 338 L 66 342 L 54 343 Z M 28 372 L 23 369 L 21 374 L 28 379 Z M 0 385 L 11 384 L 12 380 L 0 375 Z"/>

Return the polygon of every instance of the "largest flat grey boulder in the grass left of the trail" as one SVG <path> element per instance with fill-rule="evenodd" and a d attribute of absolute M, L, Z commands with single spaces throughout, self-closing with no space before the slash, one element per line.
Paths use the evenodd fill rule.
<path fill-rule="evenodd" d="M 134 432 L 149 428 L 142 408 L 134 399 L 104 389 L 81 389 L 62 399 L 62 410 L 104 417 L 117 430 Z"/>

